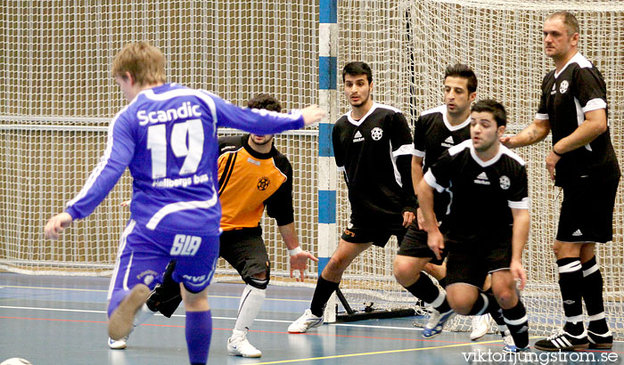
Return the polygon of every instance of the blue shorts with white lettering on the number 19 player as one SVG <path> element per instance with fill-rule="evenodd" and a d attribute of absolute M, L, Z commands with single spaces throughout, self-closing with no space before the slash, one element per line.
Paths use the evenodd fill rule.
<path fill-rule="evenodd" d="M 172 259 L 177 260 L 173 280 L 199 293 L 210 284 L 218 260 L 218 236 L 151 231 L 135 220 L 127 223 L 119 241 L 112 273 L 109 315 L 136 284 L 153 289 Z"/>

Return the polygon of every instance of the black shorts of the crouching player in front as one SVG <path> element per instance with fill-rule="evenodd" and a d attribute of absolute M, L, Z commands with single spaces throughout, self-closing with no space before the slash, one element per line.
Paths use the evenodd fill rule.
<path fill-rule="evenodd" d="M 512 237 L 496 242 L 457 242 L 447 239 L 447 286 L 455 283 L 483 288 L 489 272 L 508 270 L 512 262 Z"/>

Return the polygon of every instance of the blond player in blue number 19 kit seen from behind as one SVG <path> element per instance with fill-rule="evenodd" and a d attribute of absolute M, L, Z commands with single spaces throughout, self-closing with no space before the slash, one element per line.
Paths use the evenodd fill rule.
<path fill-rule="evenodd" d="M 45 225 L 45 236 L 57 239 L 73 220 L 91 214 L 128 167 L 131 215 L 111 279 L 109 336 L 127 336 L 157 278 L 176 259 L 172 278 L 185 301 L 189 359 L 205 364 L 212 332 L 207 288 L 217 264 L 221 219 L 217 128 L 275 134 L 313 124 L 324 111 L 242 109 L 214 94 L 165 83 L 163 54 L 144 42 L 117 54 L 112 76 L 129 103 L 111 121 L 102 160 L 67 209 Z"/>

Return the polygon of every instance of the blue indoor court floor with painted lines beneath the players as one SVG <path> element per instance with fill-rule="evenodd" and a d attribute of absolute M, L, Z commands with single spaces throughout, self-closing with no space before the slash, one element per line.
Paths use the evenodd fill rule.
<path fill-rule="evenodd" d="M 35 365 L 187 364 L 185 313 L 171 319 L 152 317 L 135 329 L 126 350 L 106 344 L 107 278 L 28 276 L 0 272 L 0 362 L 21 357 Z M 242 284 L 210 287 L 213 315 L 210 364 L 620 364 L 624 344 L 613 351 L 543 353 L 513 358 L 501 353 L 502 338 L 486 335 L 471 342 L 463 332 L 444 332 L 425 340 L 410 317 L 327 324 L 307 334 L 286 328 L 308 308 L 310 288 L 270 286 L 250 343 L 259 359 L 228 356 L 226 341 L 238 307 Z M 532 338 L 533 344 L 538 338 Z M 505 356 L 505 357 L 504 357 Z"/>

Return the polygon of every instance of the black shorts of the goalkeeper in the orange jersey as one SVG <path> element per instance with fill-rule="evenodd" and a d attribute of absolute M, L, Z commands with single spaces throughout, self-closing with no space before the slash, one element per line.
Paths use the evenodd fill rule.
<path fill-rule="evenodd" d="M 271 264 L 261 228 L 224 231 L 219 243 L 219 255 L 241 274 L 243 280 L 260 272 L 267 272 L 268 278 Z"/>

